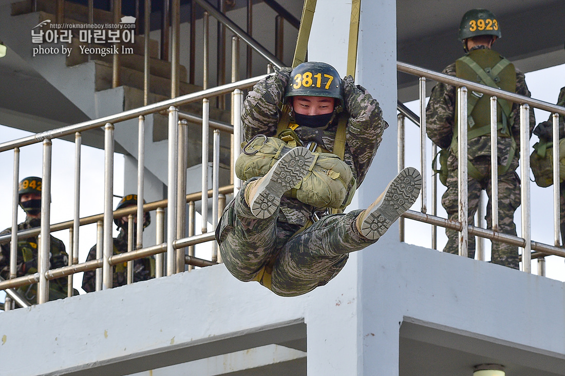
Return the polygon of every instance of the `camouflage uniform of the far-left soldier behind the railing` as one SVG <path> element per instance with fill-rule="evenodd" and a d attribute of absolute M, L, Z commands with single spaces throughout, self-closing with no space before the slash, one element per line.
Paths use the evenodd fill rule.
<path fill-rule="evenodd" d="M 40 219 L 27 217 L 25 222 L 18 224 L 18 231 L 28 230 L 41 226 Z M 11 234 L 11 228 L 2 231 L 0 235 Z M 0 275 L 8 279 L 10 275 L 10 244 L 2 244 L 0 252 Z M 49 257 L 49 269 L 55 269 L 68 265 L 68 255 L 62 241 L 51 235 L 51 250 Z M 18 240 L 18 254 L 16 259 L 16 276 L 37 273 L 37 237 L 28 237 Z M 37 283 L 18 288 L 31 304 L 37 303 Z M 75 293 L 77 295 L 78 292 Z M 49 281 L 49 300 L 67 297 L 67 277 L 52 279 Z"/>

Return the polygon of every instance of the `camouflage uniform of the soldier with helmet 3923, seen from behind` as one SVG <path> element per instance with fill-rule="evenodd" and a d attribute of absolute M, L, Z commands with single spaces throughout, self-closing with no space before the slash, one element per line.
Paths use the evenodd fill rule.
<path fill-rule="evenodd" d="M 478 46 L 471 49 L 485 48 Z M 442 72 L 446 75 L 456 76 L 455 63 L 447 66 Z M 445 191 L 441 204 L 447 211 L 449 219 L 458 221 L 458 161 L 457 155 L 451 150 L 451 139 L 453 137 L 455 123 L 455 109 L 457 90 L 449 84 L 438 83 L 433 89 L 426 109 L 427 133 L 428 137 L 440 148 L 449 148 L 447 159 L 447 190 Z M 530 97 L 531 93 L 525 83 L 524 74 L 516 70 L 516 94 Z M 505 174 L 498 176 L 498 216 L 499 231 L 504 234 L 516 235 L 516 225 L 514 224 L 514 211 L 520 206 L 520 178 L 515 170 L 518 168 L 520 150 L 520 106 L 512 103 L 512 112 L 509 116 L 511 135 L 516 141 L 516 153 L 510 163 L 510 167 Z M 530 136 L 536 124 L 533 110 L 530 111 Z M 505 166 L 508 162 L 511 149 L 510 137 L 498 137 L 498 165 Z M 492 228 L 492 215 L 490 213 L 490 134 L 475 137 L 468 140 L 468 159 L 473 166 L 479 170 L 484 179 L 477 180 L 468 176 L 468 221 L 474 221 L 475 212 L 479 205 L 481 189 L 485 189 L 489 197 L 486 209 L 487 228 Z M 459 234 L 455 230 L 445 230 L 447 244 L 444 252 L 459 253 L 458 242 Z M 468 256 L 475 257 L 475 237 L 469 238 Z M 492 262 L 500 265 L 519 268 L 518 247 L 509 244 L 493 242 Z"/>

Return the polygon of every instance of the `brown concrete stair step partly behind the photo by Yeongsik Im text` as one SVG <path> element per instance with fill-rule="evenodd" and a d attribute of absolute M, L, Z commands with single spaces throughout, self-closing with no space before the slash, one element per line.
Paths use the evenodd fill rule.
<path fill-rule="evenodd" d="M 78 38 L 73 38 L 72 43 L 70 45 L 72 47 L 71 54 L 67 57 L 67 66 L 72 67 L 77 64 L 82 64 L 88 62 L 89 55 L 86 53 L 82 53 L 82 47 L 90 48 L 98 51 L 103 51 L 101 49 L 107 49 L 110 47 L 109 45 L 101 45 L 101 44 L 90 44 L 87 45 L 83 42 L 80 42 Z M 129 47 L 131 44 L 124 44 L 123 47 Z M 120 50 L 121 51 L 121 50 Z M 90 59 L 92 60 L 100 60 L 109 64 L 112 64 L 112 55 L 111 54 L 91 54 Z M 120 53 L 120 65 L 126 68 L 130 68 L 136 70 L 138 72 L 143 73 L 145 70 L 145 62 L 144 56 L 138 55 L 135 53 Z M 149 58 L 149 73 L 154 76 L 163 77 L 166 79 L 171 79 L 171 62 L 164 61 L 161 59 L 156 58 Z M 179 66 L 179 79 L 180 81 L 187 81 L 188 74 L 186 72 L 186 68 L 184 66 Z"/>

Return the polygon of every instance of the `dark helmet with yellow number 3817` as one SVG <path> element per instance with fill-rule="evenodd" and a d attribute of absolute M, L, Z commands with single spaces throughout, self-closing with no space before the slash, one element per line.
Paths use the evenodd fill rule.
<path fill-rule="evenodd" d="M 290 73 L 285 90 L 289 97 L 330 97 L 344 104 L 344 89 L 336 68 L 327 63 L 306 62 L 298 64 Z"/>

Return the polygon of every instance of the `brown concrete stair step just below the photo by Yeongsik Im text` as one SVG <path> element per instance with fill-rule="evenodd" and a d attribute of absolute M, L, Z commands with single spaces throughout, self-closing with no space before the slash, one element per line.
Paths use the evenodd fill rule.
<path fill-rule="evenodd" d="M 110 89 L 112 87 L 112 64 L 106 63 L 100 60 L 94 60 L 96 64 L 96 82 L 95 89 L 97 91 Z M 127 68 L 125 66 L 120 67 L 120 84 L 137 88 L 144 89 L 144 74 L 143 72 L 134 70 L 132 68 Z M 149 90 L 151 93 L 160 94 L 170 98 L 171 96 L 171 80 L 159 77 L 155 75 L 149 76 Z M 179 92 L 180 95 L 194 93 L 202 90 L 201 87 L 196 85 L 188 84 L 186 82 L 180 81 Z"/>

